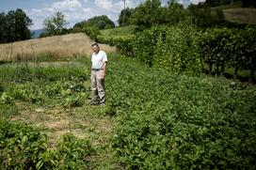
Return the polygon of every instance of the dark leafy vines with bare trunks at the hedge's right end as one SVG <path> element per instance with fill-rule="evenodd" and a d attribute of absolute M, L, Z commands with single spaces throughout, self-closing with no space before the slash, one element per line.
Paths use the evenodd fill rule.
<path fill-rule="evenodd" d="M 239 29 L 207 29 L 200 39 L 200 55 L 204 62 L 216 66 L 216 74 L 223 74 L 226 68 L 234 68 L 234 76 L 238 70 L 250 70 L 250 78 L 255 71 L 255 26 Z"/>

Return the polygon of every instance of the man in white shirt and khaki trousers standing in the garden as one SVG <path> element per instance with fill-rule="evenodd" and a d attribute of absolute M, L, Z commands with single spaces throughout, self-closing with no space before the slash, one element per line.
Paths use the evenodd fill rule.
<path fill-rule="evenodd" d="M 93 43 L 91 45 L 91 49 L 93 54 L 91 55 L 91 105 L 105 103 L 105 90 L 104 90 L 104 77 L 105 77 L 105 69 L 107 56 L 104 51 L 100 50 L 98 43 Z"/>

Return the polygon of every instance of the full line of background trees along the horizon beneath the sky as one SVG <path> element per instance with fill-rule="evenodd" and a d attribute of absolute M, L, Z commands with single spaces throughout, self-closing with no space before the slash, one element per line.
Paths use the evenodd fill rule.
<path fill-rule="evenodd" d="M 225 21 L 221 9 L 212 8 L 219 5 L 240 3 L 242 7 L 255 7 L 256 0 L 206 0 L 199 5 L 190 4 L 188 8 L 176 3 L 175 0 L 168 1 L 168 5 L 161 6 L 160 0 L 146 0 L 136 8 L 124 8 L 120 11 L 118 23 L 121 26 L 137 25 L 136 31 L 150 28 L 155 25 L 177 25 L 184 22 L 195 24 L 207 29 L 215 26 L 237 27 L 241 24 Z M 28 29 L 32 20 L 26 16 L 24 11 L 17 8 L 10 10 L 7 14 L 0 13 L 0 43 L 31 39 Z M 84 32 L 93 39 L 100 34 L 100 29 L 115 27 L 115 23 L 107 16 L 96 16 L 80 23 L 75 23 L 71 29 L 67 29 L 65 16 L 57 11 L 53 16 L 46 18 L 43 22 L 44 30 L 40 37 L 64 35 L 69 33 Z"/>

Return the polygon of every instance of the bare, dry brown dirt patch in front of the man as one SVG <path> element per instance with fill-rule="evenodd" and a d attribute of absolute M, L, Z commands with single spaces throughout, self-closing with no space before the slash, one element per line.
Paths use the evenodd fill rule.
<path fill-rule="evenodd" d="M 21 120 L 40 127 L 49 137 L 50 147 L 56 147 L 59 138 L 71 132 L 77 138 L 88 139 L 93 146 L 105 146 L 112 133 L 113 120 L 109 116 L 93 115 L 97 108 L 65 109 L 39 107 L 17 102 L 19 115 L 11 120 Z"/>

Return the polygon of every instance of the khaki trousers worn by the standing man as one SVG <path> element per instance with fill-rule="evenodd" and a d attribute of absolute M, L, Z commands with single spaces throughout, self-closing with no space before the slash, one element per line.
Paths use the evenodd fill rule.
<path fill-rule="evenodd" d="M 104 91 L 104 70 L 91 70 L 91 102 L 101 104 L 105 102 L 105 91 Z"/>

